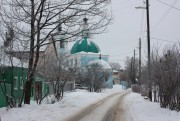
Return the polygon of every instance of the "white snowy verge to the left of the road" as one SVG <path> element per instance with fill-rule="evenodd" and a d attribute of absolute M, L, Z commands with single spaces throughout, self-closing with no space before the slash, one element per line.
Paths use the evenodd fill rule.
<path fill-rule="evenodd" d="M 0 117 L 1 121 L 63 121 L 88 105 L 121 91 L 120 85 L 115 85 L 113 89 L 105 89 L 101 93 L 76 90 L 65 93 L 64 98 L 55 104 L 37 105 L 32 102 L 31 105 L 8 111 L 6 108 L 0 108 Z"/>

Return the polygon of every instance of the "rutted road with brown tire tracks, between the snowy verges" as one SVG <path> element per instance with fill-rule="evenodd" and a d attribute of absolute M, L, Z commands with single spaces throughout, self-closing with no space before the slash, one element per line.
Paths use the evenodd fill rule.
<path fill-rule="evenodd" d="M 125 115 L 117 107 L 123 107 L 123 98 L 129 94 L 128 91 L 112 94 L 95 104 L 88 106 L 66 121 L 117 121 L 116 118 Z M 118 106 L 117 106 L 118 105 Z M 125 109 L 125 107 L 124 107 Z M 119 114 L 120 113 L 120 114 Z M 125 119 L 125 118 L 124 118 Z M 126 121 L 126 120 L 122 120 Z M 128 120 L 129 121 L 129 120 Z"/>

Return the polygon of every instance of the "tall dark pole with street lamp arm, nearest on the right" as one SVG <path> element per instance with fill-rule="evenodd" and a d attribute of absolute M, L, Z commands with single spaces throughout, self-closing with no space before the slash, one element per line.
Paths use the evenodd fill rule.
<path fill-rule="evenodd" d="M 151 76 L 151 68 L 150 68 L 150 24 L 149 24 L 149 0 L 146 0 L 146 7 L 135 7 L 136 9 L 146 9 L 146 17 L 147 17 L 147 46 L 148 46 L 148 88 L 149 98 L 152 101 L 152 92 L 151 92 L 151 84 L 150 84 L 150 76 Z"/>

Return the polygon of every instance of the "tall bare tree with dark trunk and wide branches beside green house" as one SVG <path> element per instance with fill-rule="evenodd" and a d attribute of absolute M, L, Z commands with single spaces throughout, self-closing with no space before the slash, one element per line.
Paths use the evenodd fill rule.
<path fill-rule="evenodd" d="M 72 41 L 81 33 L 82 17 L 89 19 L 92 34 L 103 32 L 110 23 L 107 10 L 110 0 L 3 0 L 1 20 L 3 27 L 14 24 L 19 41 L 29 44 L 30 56 L 24 103 L 30 104 L 32 80 L 39 60 L 41 46 L 49 44 L 47 39 L 60 26 L 64 27 L 63 40 Z M 70 39 L 71 38 L 71 39 Z M 28 45 L 27 44 L 27 45 Z"/>

